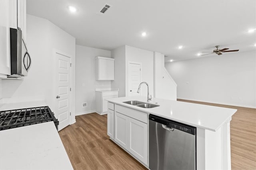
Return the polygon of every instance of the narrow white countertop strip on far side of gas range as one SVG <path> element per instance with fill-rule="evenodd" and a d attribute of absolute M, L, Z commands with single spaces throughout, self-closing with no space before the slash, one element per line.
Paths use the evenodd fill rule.
<path fill-rule="evenodd" d="M 40 107 L 40 106 L 48 106 L 48 105 L 46 104 L 45 101 L 8 103 L 8 104 L 2 104 L 0 107 L 0 111 L 12 110 L 12 109 L 24 109 L 24 108 Z"/>

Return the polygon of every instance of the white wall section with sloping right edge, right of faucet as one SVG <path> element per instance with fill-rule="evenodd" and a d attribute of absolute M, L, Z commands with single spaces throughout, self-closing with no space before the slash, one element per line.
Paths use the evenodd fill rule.
<path fill-rule="evenodd" d="M 154 97 L 177 100 L 177 84 L 164 68 L 164 55 L 154 52 Z"/>

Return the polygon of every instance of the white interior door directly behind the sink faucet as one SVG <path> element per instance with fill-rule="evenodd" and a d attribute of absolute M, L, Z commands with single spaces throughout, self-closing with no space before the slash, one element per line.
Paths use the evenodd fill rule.
<path fill-rule="evenodd" d="M 141 64 L 128 63 L 128 96 L 139 96 Z"/>

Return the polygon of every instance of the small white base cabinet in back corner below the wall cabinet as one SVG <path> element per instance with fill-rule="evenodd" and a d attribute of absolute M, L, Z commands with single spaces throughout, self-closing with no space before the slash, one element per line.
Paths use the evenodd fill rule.
<path fill-rule="evenodd" d="M 100 115 L 108 111 L 107 98 L 118 98 L 118 91 L 102 90 L 96 91 L 96 112 Z"/>

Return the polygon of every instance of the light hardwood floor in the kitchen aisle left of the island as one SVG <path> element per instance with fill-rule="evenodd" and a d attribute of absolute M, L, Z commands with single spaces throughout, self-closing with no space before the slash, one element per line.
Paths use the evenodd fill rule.
<path fill-rule="evenodd" d="M 59 132 L 75 170 L 145 170 L 107 135 L 107 115 L 76 116 L 76 123 Z"/>

